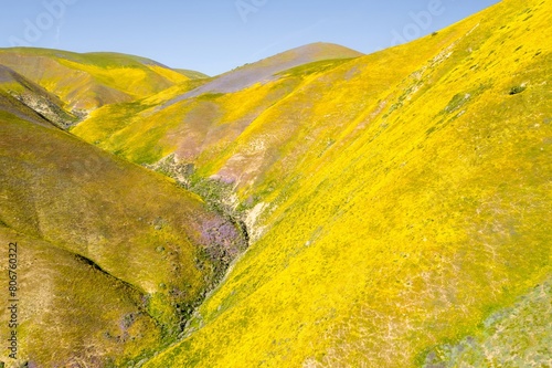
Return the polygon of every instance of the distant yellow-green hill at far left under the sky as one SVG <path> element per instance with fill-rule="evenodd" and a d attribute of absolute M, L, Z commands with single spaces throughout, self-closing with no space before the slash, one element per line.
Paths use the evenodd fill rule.
<path fill-rule="evenodd" d="M 153 61 L 116 53 L 2 49 L 0 64 L 82 111 L 142 98 L 189 80 Z"/>

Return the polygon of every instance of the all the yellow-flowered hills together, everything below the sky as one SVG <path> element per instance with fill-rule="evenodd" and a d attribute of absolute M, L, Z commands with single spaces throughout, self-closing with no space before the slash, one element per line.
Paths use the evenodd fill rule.
<path fill-rule="evenodd" d="M 23 360 L 549 366 L 551 11 L 503 0 L 374 54 L 317 43 L 214 77 L 0 51 Z"/>

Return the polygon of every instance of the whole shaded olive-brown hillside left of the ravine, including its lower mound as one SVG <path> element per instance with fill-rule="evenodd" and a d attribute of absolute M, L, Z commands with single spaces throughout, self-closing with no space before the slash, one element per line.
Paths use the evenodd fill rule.
<path fill-rule="evenodd" d="M 243 250 L 240 231 L 167 178 L 10 97 L 0 90 L 9 106 L 0 112 L 0 225 L 2 240 L 22 243 L 21 358 L 118 366 L 174 337 Z"/>

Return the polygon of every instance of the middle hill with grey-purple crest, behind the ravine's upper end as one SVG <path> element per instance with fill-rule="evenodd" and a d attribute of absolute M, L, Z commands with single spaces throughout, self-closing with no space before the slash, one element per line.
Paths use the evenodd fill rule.
<path fill-rule="evenodd" d="M 204 161 L 202 156 L 211 160 L 263 113 L 300 88 L 304 74 L 331 70 L 360 55 L 332 44 L 306 45 L 200 80 L 199 86 L 106 106 L 72 133 L 139 164 L 153 164 L 170 154 L 187 164 Z"/>

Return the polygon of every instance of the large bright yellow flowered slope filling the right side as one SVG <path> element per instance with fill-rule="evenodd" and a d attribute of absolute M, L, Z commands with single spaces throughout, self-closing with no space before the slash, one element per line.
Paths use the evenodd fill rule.
<path fill-rule="evenodd" d="M 551 271 L 550 11 L 505 1 L 309 74 L 213 156 L 200 170 L 241 170 L 265 232 L 148 367 L 412 367 L 465 339 L 485 357 L 482 322 Z M 549 341 L 518 332 L 479 366 Z"/>

